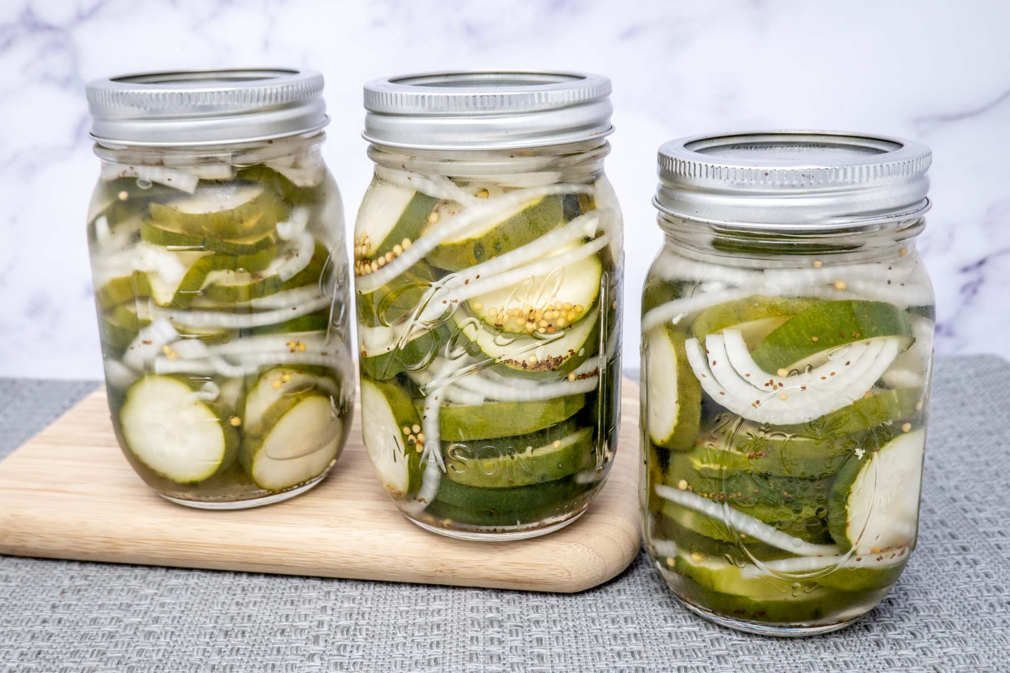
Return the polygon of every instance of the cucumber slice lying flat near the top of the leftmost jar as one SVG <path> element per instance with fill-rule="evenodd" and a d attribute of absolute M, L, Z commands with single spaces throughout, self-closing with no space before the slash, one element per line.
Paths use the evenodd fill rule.
<path fill-rule="evenodd" d="M 147 206 L 150 218 L 177 231 L 242 239 L 263 234 L 287 218 L 281 198 L 263 185 L 211 183 L 192 196 Z"/>

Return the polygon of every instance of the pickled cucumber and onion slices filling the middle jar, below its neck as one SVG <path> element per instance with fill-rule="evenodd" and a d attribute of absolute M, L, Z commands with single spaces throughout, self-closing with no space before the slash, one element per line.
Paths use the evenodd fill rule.
<path fill-rule="evenodd" d="M 354 246 L 364 436 L 409 517 L 535 528 L 605 479 L 619 234 L 595 191 L 388 170 L 369 189 Z"/>

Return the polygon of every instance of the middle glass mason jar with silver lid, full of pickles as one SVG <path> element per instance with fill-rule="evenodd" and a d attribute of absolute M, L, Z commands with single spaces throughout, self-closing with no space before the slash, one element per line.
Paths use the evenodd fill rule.
<path fill-rule="evenodd" d="M 365 88 L 355 276 L 365 445 L 442 535 L 543 535 L 616 450 L 621 217 L 610 82 L 446 73 Z"/>

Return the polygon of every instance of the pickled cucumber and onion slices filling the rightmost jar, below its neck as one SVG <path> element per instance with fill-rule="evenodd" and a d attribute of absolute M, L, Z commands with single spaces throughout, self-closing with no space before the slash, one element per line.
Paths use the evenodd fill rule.
<path fill-rule="evenodd" d="M 862 613 L 915 544 L 931 320 L 801 282 L 763 295 L 760 272 L 699 291 L 717 270 L 687 269 L 705 277 L 653 274 L 643 296 L 650 554 L 744 620 Z"/>

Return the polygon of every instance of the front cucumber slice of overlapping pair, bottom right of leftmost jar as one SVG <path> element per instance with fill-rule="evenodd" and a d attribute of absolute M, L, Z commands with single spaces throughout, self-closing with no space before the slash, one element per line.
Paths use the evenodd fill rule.
<path fill-rule="evenodd" d="M 246 435 L 242 466 L 258 486 L 281 491 L 326 471 L 343 439 L 343 420 L 329 396 L 301 393 L 278 400 L 263 414 L 265 434 Z"/>

